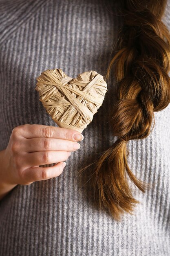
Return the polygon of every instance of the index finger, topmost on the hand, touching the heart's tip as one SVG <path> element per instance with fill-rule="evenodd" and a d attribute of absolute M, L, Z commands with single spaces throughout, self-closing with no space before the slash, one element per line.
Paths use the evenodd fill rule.
<path fill-rule="evenodd" d="M 73 129 L 61 128 L 55 126 L 46 126 L 42 124 L 23 124 L 21 126 L 15 127 L 15 129 L 20 127 L 20 135 L 26 139 L 45 137 L 45 138 L 59 138 L 67 139 L 71 141 L 83 140 L 83 135 Z M 82 139 L 74 139 L 73 135 L 82 135 Z"/>

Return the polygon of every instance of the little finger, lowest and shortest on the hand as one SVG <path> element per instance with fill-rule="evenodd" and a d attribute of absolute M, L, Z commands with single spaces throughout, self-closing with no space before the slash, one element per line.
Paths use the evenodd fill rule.
<path fill-rule="evenodd" d="M 64 169 L 62 164 L 63 163 L 60 162 L 51 167 L 32 167 L 26 169 L 22 172 L 22 179 L 26 184 L 29 182 L 48 180 L 53 177 L 57 177 L 62 173 Z"/>

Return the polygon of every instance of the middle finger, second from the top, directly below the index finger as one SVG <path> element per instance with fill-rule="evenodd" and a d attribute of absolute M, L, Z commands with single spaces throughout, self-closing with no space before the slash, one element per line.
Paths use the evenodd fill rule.
<path fill-rule="evenodd" d="M 20 146 L 20 150 L 23 150 L 24 152 L 48 150 L 75 151 L 80 148 L 78 142 L 66 139 L 33 138 L 25 140 L 25 143 L 22 143 Z"/>

